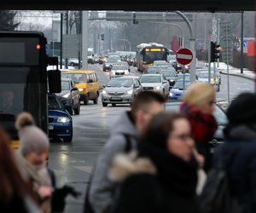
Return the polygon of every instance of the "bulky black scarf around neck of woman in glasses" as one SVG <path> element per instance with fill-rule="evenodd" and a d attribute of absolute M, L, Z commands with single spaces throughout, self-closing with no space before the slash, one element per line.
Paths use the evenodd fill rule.
<path fill-rule="evenodd" d="M 148 157 L 154 163 L 157 176 L 164 187 L 184 196 L 195 194 L 198 168 L 195 158 L 187 162 L 166 148 L 144 142 L 139 146 L 140 156 Z"/>

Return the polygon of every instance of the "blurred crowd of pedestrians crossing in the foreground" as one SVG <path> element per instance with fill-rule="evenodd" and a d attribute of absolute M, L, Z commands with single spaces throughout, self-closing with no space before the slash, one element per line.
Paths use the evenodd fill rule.
<path fill-rule="evenodd" d="M 212 154 L 215 101 L 207 83 L 187 89 L 179 112 L 165 112 L 158 93 L 137 95 L 96 162 L 84 213 L 256 212 L 256 95 L 244 93 L 230 103 L 224 144 Z M 67 194 L 79 193 L 56 187 L 47 166 L 49 139 L 32 116 L 22 112 L 15 126 L 18 151 L 0 128 L 0 212 L 62 212 Z"/>

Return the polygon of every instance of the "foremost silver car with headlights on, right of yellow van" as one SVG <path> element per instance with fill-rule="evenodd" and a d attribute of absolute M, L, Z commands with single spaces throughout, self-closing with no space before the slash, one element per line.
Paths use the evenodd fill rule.
<path fill-rule="evenodd" d="M 137 77 L 111 78 L 108 85 L 102 91 L 102 106 L 112 104 L 130 104 L 135 96 L 143 91 L 143 86 Z"/>

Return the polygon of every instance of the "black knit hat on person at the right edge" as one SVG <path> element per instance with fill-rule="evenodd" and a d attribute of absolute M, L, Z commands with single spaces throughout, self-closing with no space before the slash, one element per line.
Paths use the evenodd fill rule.
<path fill-rule="evenodd" d="M 231 101 L 227 110 L 230 124 L 256 124 L 256 95 L 242 93 Z"/>

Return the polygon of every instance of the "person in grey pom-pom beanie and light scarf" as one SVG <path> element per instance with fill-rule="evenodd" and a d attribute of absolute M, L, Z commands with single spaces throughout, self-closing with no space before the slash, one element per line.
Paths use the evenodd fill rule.
<path fill-rule="evenodd" d="M 49 139 L 35 124 L 32 115 L 21 112 L 16 119 L 20 136 L 20 149 L 16 154 L 21 175 L 32 186 L 38 204 L 44 213 L 51 212 L 50 197 L 53 192 L 46 166 Z"/>

